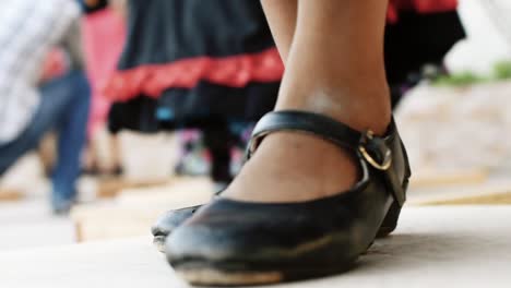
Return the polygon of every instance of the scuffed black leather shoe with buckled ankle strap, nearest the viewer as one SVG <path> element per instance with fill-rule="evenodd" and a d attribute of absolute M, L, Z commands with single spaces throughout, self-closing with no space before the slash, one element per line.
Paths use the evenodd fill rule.
<path fill-rule="evenodd" d="M 334 196 L 289 204 L 217 197 L 173 231 L 169 263 L 194 285 L 259 285 L 318 277 L 352 266 L 377 235 L 394 230 L 409 178 L 392 122 L 384 137 L 300 111 L 266 115 L 254 129 L 249 157 L 273 132 L 312 133 L 358 159 L 361 179 Z"/>

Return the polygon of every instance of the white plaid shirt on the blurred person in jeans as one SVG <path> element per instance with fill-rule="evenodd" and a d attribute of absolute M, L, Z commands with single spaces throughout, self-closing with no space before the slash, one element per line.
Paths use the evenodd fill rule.
<path fill-rule="evenodd" d="M 0 144 L 34 117 L 45 57 L 70 35 L 80 7 L 73 0 L 2 0 L 0 4 Z"/>

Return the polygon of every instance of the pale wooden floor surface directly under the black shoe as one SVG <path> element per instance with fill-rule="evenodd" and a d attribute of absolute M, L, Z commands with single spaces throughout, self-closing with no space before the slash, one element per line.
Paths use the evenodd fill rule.
<path fill-rule="evenodd" d="M 477 215 L 477 217 L 474 217 Z M 511 206 L 407 207 L 343 275 L 281 288 L 509 287 Z M 151 237 L 0 253 L 0 287 L 188 288 Z"/>

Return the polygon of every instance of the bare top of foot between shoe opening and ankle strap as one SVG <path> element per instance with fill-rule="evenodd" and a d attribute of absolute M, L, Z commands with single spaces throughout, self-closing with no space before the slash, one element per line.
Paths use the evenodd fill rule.
<path fill-rule="evenodd" d="M 388 121 L 377 125 L 387 128 L 387 124 Z M 331 196 L 357 182 L 359 167 L 355 163 L 353 153 L 318 136 L 296 132 L 271 134 L 222 196 L 261 203 Z"/>

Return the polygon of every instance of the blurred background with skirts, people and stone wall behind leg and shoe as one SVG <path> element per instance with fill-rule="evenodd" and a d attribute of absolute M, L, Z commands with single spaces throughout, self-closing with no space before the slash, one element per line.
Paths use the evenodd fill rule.
<path fill-rule="evenodd" d="M 0 251 L 147 236 L 164 212 L 230 181 L 283 71 L 260 8 L 242 16 L 263 33 L 240 28 L 228 36 L 249 45 L 225 47 L 193 25 L 192 43 L 144 33 L 158 1 L 24 2 L 45 1 L 0 9 Z M 414 171 L 408 203 L 511 204 L 511 2 L 461 0 L 442 25 L 456 13 L 461 28 L 427 36 L 451 31 L 448 52 L 391 83 Z M 413 51 L 432 49 L 415 36 Z M 389 61 L 400 60 L 412 61 Z M 239 76 L 247 69 L 259 81 Z"/>

